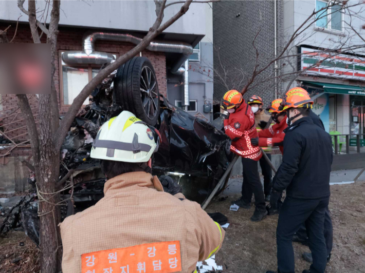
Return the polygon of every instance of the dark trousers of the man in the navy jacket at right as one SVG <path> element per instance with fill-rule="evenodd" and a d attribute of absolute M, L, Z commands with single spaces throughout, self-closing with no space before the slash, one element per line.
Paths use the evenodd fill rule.
<path fill-rule="evenodd" d="M 323 235 L 324 214 L 330 198 L 296 199 L 286 197 L 280 208 L 276 231 L 278 246 L 278 269 L 281 273 L 294 273 L 294 250 L 291 238 L 305 222 L 308 231 L 309 249 L 312 251 L 311 273 L 324 273 L 327 250 Z"/>

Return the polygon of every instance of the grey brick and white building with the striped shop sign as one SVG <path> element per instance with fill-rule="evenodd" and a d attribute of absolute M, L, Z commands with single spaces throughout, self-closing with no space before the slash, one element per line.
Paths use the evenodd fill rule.
<path fill-rule="evenodd" d="M 346 5 L 356 3 L 349 1 Z M 266 106 L 276 97 L 282 97 L 289 88 L 301 86 L 314 98 L 313 110 L 322 119 L 327 132 L 365 133 L 365 43 L 351 28 L 360 35 L 365 32 L 363 22 L 357 16 L 361 5 L 351 8 L 353 16 L 350 18 L 349 11 L 341 5 L 325 0 L 214 3 L 215 70 L 225 75 L 221 69 L 224 66 L 228 77 L 233 79 L 238 74 L 239 80 L 229 82 L 228 89 L 242 90 L 255 65 L 260 70 L 275 59 L 313 11 L 322 8 L 323 11 L 304 24 L 303 31 L 289 45 L 283 57 L 255 79 L 244 97 L 247 100 L 252 94 L 257 94 Z M 351 27 L 346 24 L 350 22 Z M 341 48 L 341 43 L 345 45 L 343 48 L 359 47 L 341 50 L 339 54 L 334 49 Z M 234 69 L 244 73 L 232 73 Z M 248 79 L 244 74 L 248 75 Z M 241 79 L 244 80 L 241 82 Z M 217 73 L 214 82 L 213 97 L 218 105 L 227 87 L 218 84 L 221 81 Z M 355 146 L 356 136 L 352 135 L 351 139 L 350 145 Z M 363 136 L 361 145 L 364 145 L 362 139 Z M 339 141 L 343 142 L 344 138 Z"/>

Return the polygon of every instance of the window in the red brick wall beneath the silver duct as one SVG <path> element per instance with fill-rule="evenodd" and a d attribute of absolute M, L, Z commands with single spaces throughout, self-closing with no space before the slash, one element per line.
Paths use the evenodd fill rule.
<path fill-rule="evenodd" d="M 85 85 L 98 74 L 100 66 L 69 66 L 62 61 L 63 53 L 60 54 L 61 97 L 63 105 L 71 105 Z M 113 56 L 117 57 L 116 54 Z M 87 98 L 83 104 L 89 104 L 89 99 Z"/>

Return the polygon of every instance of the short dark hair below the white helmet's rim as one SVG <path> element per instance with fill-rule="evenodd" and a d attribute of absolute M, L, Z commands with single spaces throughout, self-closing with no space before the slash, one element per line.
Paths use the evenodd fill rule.
<path fill-rule="evenodd" d="M 112 160 L 100 160 L 101 171 L 105 174 L 107 179 L 116 177 L 117 175 L 133 172 L 144 171 L 139 163 L 121 162 Z"/>

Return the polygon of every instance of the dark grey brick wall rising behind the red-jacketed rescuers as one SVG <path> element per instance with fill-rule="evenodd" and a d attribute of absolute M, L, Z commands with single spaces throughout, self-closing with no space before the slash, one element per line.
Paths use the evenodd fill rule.
<path fill-rule="evenodd" d="M 277 35 L 282 35 L 283 2 L 277 1 Z M 255 46 L 259 51 L 259 68 L 264 67 L 275 56 L 275 9 L 273 1 L 222 1 L 213 3 L 213 41 L 214 41 L 214 67 L 220 69 L 222 63 L 229 70 L 230 89 L 242 90 L 247 83 L 247 78 L 242 80 L 242 73 L 236 69 L 251 75 L 255 65 L 255 49 L 252 46 L 255 35 Z M 280 41 L 278 41 L 280 44 Z M 278 52 L 281 46 L 278 45 Z M 220 60 L 218 59 L 220 58 Z M 236 71 L 235 71 L 236 70 Z M 235 72 L 234 72 L 235 71 Z M 274 75 L 274 65 L 262 72 L 247 91 L 244 98 L 247 100 L 253 94 L 262 97 L 266 107 L 275 99 L 275 80 L 267 81 Z M 229 77 L 230 77 L 229 76 Z M 214 81 L 218 81 L 217 73 L 214 73 Z M 234 83 L 236 85 L 234 86 Z M 278 93 L 281 93 L 282 84 Z M 220 101 L 226 92 L 226 88 L 220 84 L 214 84 L 214 100 Z M 279 97 L 279 96 L 278 96 Z"/>

